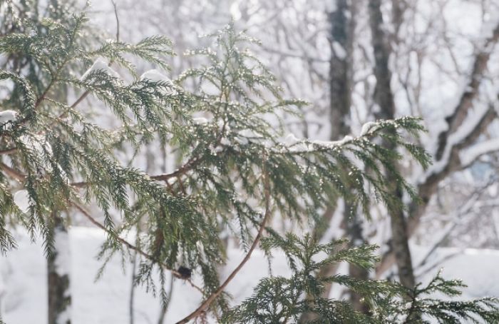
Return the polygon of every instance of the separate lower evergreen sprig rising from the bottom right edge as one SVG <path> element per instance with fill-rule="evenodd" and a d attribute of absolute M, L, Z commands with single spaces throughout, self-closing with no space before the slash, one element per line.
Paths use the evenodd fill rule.
<path fill-rule="evenodd" d="M 426 286 L 408 290 L 386 280 L 359 280 L 348 275 L 317 277 L 327 264 L 347 262 L 362 268 L 374 268 L 378 260 L 376 246 L 348 247 L 345 240 L 318 244 L 311 236 L 299 238 L 270 236 L 262 241 L 270 253 L 279 248 L 287 255 L 294 273 L 290 278 L 271 277 L 260 280 L 254 294 L 232 308 L 222 323 L 298 323 L 302 313 L 312 313 L 307 323 L 497 323 L 498 300 L 482 298 L 456 301 L 431 298 L 456 297 L 465 285 L 459 280 L 444 280 L 438 273 Z M 363 296 L 369 314 L 351 308 L 346 300 L 321 297 L 326 283 L 342 285 Z M 303 298 L 307 295 L 307 298 Z M 423 315 L 423 318 L 421 318 Z"/>

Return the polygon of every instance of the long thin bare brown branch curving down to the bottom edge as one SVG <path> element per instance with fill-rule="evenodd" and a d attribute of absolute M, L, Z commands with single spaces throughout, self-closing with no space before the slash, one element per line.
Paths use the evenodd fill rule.
<path fill-rule="evenodd" d="M 260 241 L 260 238 L 262 238 L 262 233 L 264 231 L 265 224 L 267 223 L 267 221 L 268 221 L 268 219 L 270 217 L 270 214 L 271 214 L 271 212 L 270 212 L 270 183 L 269 183 L 269 177 L 268 177 L 267 172 L 265 171 L 265 169 L 264 169 L 263 173 L 264 173 L 265 214 L 264 214 L 263 221 L 260 224 L 260 227 L 258 229 L 257 236 L 254 238 L 254 241 L 253 241 L 253 243 L 251 245 L 251 248 L 249 248 L 248 252 L 245 255 L 245 258 L 242 259 L 242 261 L 240 262 L 240 264 L 237 265 L 237 267 L 234 270 L 232 270 L 232 273 L 230 273 L 230 275 L 227 277 L 227 279 L 225 279 L 224 283 L 222 283 L 222 285 L 220 285 L 220 287 L 217 288 L 217 290 L 215 290 L 214 293 L 212 293 L 208 298 L 206 298 L 206 300 L 204 302 L 202 302 L 201 305 L 196 310 L 194 310 L 192 313 L 190 313 L 189 315 L 187 315 L 182 320 L 179 320 L 176 324 L 188 323 L 193 318 L 197 318 L 198 316 L 202 315 L 202 313 L 205 313 L 206 309 L 208 307 L 210 307 L 210 305 L 215 301 L 215 299 L 223 292 L 223 290 L 230 283 L 230 281 L 232 281 L 232 279 L 235 278 L 235 276 L 237 275 L 237 273 L 239 273 L 239 271 L 241 270 L 241 268 L 247 263 L 247 261 L 249 260 L 249 258 L 251 258 L 251 255 L 252 255 L 254 249 L 257 248 L 257 245 L 258 245 L 258 243 Z"/>

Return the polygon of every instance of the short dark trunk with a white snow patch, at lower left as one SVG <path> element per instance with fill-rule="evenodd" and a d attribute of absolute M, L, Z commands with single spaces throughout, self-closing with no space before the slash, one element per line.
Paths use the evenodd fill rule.
<path fill-rule="evenodd" d="M 70 254 L 63 218 L 53 215 L 54 250 L 47 258 L 48 324 L 71 324 Z"/>

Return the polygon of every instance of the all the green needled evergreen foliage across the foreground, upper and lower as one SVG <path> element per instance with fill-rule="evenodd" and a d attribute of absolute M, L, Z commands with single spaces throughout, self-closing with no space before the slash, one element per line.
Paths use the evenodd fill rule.
<path fill-rule="evenodd" d="M 35 3 L 22 2 L 26 11 Z M 168 70 L 168 58 L 174 55 L 169 39 L 102 41 L 88 28 L 85 12 L 73 14 L 67 8 L 51 6 L 45 16 L 20 15 L 23 11 L 12 1 L 0 4 L 8 17 L 0 38 L 0 54 L 6 57 L 0 79 L 8 94 L 0 101 L 0 113 L 16 112 L 0 129 L 3 253 L 15 247 L 9 232 L 14 224 L 26 228 L 33 239 L 40 234 L 51 253 L 53 215 L 74 211 L 106 231 L 104 260 L 115 253 L 126 256 L 130 249 L 139 252 L 137 283 L 157 291 L 152 284 L 155 271 L 163 283 L 165 271 L 192 283 L 185 275 L 192 270 L 202 278 L 202 293 L 210 300 L 220 290 L 217 269 L 225 263 L 222 231 L 230 231 L 251 250 L 256 230 L 256 238 L 262 232 L 266 236 L 262 247 L 269 253 L 273 248 L 287 253 L 294 276 L 262 280 L 252 298 L 230 311 L 227 295 L 217 293 L 216 303 L 207 306 L 226 313 L 227 323 L 280 323 L 302 312 L 317 313 L 317 323 L 403 321 L 407 314 L 421 313 L 443 323 L 469 314 L 497 320 L 491 310 L 495 300 L 421 299 L 433 291 L 457 293 L 458 283 L 440 277 L 414 292 L 341 275 L 317 278 L 314 272 L 324 263 L 347 261 L 371 268 L 374 248 L 345 248 L 344 241 L 320 245 L 310 236 L 292 234 L 283 238 L 267 227 L 272 216 L 303 224 L 315 221 L 326 203 L 339 197 L 360 206 L 366 216 L 371 197 L 387 208 L 401 208 L 391 194 L 393 183 L 384 181 L 384 170 L 416 198 L 396 171 L 401 153 L 379 143 L 383 139 L 405 148 L 421 166 L 428 166 L 428 154 L 404 137 L 423 131 L 418 119 L 379 121 L 361 136 L 338 142 L 284 143 L 279 118 L 297 113 L 305 103 L 282 98 L 274 76 L 247 49 L 257 43 L 254 39 L 227 26 L 207 36 L 215 40 L 213 46 L 189 53 L 204 58 L 200 67 L 173 81 L 149 79 L 139 75 L 133 61 Z M 187 86 L 192 80 L 195 88 Z M 73 100 L 61 99 L 60 93 L 69 93 Z M 99 123 L 106 113 L 118 126 Z M 130 167 L 138 154 L 117 158 L 130 148 L 138 153 L 149 143 L 175 148 L 179 168 L 149 175 Z M 26 210 L 14 202 L 14 194 L 22 191 L 29 197 Z M 71 220 L 65 222 L 68 226 Z M 135 228 L 140 233 L 132 245 L 125 235 Z M 314 260 L 319 252 L 331 256 Z M 372 316 L 356 313 L 345 301 L 320 298 L 326 281 L 365 295 Z M 165 297 L 163 285 L 159 289 Z M 314 300 L 303 300 L 305 292 Z M 398 298 L 404 294 L 413 302 L 406 305 Z M 398 300 L 402 307 L 387 300 Z"/>

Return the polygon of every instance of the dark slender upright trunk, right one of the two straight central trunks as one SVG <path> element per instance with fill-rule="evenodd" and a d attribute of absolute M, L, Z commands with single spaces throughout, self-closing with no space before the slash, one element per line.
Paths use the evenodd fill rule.
<path fill-rule="evenodd" d="M 389 38 L 384 33 L 383 15 L 381 13 L 381 0 L 369 0 L 369 25 L 371 27 L 372 45 L 374 50 L 374 76 L 376 88 L 374 89 L 374 102 L 376 107 L 374 116 L 381 119 L 393 119 L 395 116 L 395 103 L 391 91 L 391 71 L 389 68 L 390 46 Z M 395 146 L 389 149 L 396 149 Z M 397 198 L 402 198 L 400 188 L 396 188 L 393 175 L 387 171 L 387 181 L 393 183 L 393 193 Z M 403 211 L 389 211 L 391 218 L 391 249 L 396 258 L 398 277 L 402 285 L 413 288 L 416 284 L 411 250 L 408 246 L 406 218 Z"/>

